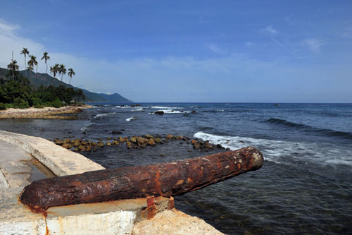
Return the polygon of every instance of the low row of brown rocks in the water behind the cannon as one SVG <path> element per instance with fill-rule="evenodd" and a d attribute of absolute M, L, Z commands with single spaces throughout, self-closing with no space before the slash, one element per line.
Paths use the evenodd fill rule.
<path fill-rule="evenodd" d="M 75 152 L 90 152 L 96 151 L 104 146 L 118 146 L 125 145 L 127 149 L 145 148 L 149 146 L 162 145 L 163 143 L 168 143 L 170 141 L 180 141 L 180 144 L 191 145 L 194 150 L 209 152 L 210 150 L 225 149 L 222 145 L 212 145 L 209 141 L 202 140 L 191 140 L 190 138 L 182 135 L 140 135 L 140 136 L 125 136 L 125 137 L 106 137 L 97 138 L 98 141 L 92 140 L 82 140 L 82 139 L 71 139 L 65 138 L 63 140 L 56 138 L 54 143 L 56 145 L 61 145 L 65 149 L 73 150 Z M 226 150 L 229 150 L 228 148 Z M 192 151 L 189 149 L 189 152 Z"/>

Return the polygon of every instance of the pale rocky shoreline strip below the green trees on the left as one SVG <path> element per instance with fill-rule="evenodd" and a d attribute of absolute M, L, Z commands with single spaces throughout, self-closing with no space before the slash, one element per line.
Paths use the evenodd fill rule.
<path fill-rule="evenodd" d="M 44 107 L 27 109 L 5 109 L 0 110 L 0 119 L 67 119 L 75 120 L 77 116 L 58 116 L 59 114 L 77 114 L 82 109 L 92 108 L 92 105 L 84 104 L 82 106 L 64 106 L 60 108 Z"/>

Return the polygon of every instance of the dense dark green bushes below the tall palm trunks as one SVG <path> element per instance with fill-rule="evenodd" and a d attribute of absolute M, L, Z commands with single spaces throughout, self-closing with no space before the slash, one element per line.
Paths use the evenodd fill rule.
<path fill-rule="evenodd" d="M 41 85 L 34 89 L 28 78 L 14 69 L 6 75 L 6 78 L 9 79 L 0 79 L 0 109 L 62 107 L 84 100 L 82 90 L 65 88 L 63 85 L 58 87 Z"/>

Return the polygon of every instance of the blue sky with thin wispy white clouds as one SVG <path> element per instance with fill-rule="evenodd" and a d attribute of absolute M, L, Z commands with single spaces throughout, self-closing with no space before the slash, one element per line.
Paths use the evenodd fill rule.
<path fill-rule="evenodd" d="M 27 47 L 73 68 L 73 85 L 134 102 L 352 102 L 349 0 L 0 6 L 1 68 L 13 51 L 23 70 Z"/>

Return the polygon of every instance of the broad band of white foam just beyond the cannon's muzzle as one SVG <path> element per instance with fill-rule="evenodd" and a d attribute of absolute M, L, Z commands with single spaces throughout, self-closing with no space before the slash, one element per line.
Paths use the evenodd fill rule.
<path fill-rule="evenodd" d="M 263 152 L 263 156 L 270 162 L 278 164 L 293 164 L 293 162 L 313 161 L 320 164 L 347 164 L 352 166 L 352 152 L 339 150 L 337 147 L 321 146 L 319 143 L 301 143 L 284 140 L 266 140 L 240 136 L 212 135 L 199 131 L 194 138 L 209 140 L 212 144 L 220 144 L 237 150 L 241 147 L 253 146 Z"/>

